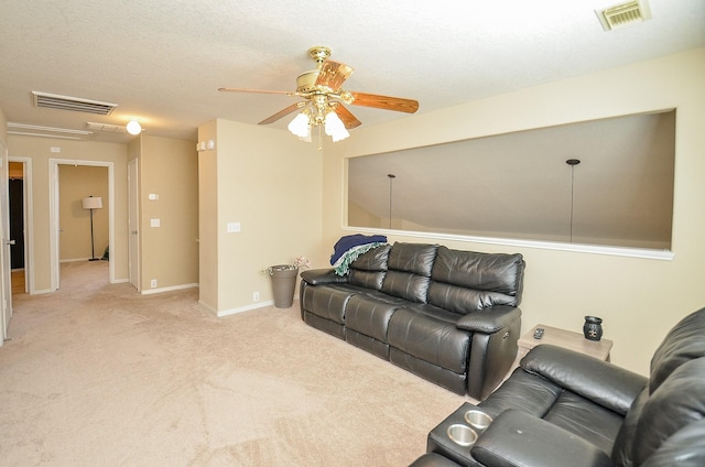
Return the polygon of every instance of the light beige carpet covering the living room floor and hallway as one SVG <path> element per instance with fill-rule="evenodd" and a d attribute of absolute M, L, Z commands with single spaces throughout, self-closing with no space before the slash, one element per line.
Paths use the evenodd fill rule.
<path fill-rule="evenodd" d="M 467 398 L 306 326 L 299 302 L 217 318 L 107 262 L 17 295 L 2 466 L 405 466 Z"/>

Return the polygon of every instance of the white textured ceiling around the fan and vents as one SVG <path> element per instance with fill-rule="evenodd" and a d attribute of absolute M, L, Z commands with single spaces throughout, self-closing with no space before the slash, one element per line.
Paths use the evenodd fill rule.
<path fill-rule="evenodd" d="M 195 140 L 214 118 L 254 124 L 293 104 L 217 88 L 293 90 L 314 45 L 355 68 L 346 89 L 417 99 L 419 112 L 705 45 L 703 0 L 650 0 L 653 19 L 607 33 L 594 10 L 615 3 L 3 0 L 0 108 L 12 122 L 82 130 L 138 117 L 148 134 Z M 39 109 L 32 90 L 118 108 Z M 406 117 L 351 110 L 366 126 Z"/>

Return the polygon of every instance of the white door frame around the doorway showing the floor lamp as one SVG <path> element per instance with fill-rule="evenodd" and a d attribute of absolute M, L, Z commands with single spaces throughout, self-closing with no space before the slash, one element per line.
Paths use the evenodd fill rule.
<path fill-rule="evenodd" d="M 50 205 L 50 257 L 51 257 L 51 289 L 59 287 L 58 261 L 58 166 L 59 165 L 90 165 L 108 167 L 108 250 L 110 251 L 110 283 L 115 283 L 115 164 L 104 161 L 80 161 L 75 159 L 48 160 L 48 205 Z"/>

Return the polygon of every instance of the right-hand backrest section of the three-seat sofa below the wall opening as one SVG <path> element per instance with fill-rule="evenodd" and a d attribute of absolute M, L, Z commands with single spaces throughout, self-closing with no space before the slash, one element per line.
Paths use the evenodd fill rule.
<path fill-rule="evenodd" d="M 440 247 L 427 302 L 460 314 L 495 305 L 518 306 L 524 267 L 519 253 L 478 253 Z"/>

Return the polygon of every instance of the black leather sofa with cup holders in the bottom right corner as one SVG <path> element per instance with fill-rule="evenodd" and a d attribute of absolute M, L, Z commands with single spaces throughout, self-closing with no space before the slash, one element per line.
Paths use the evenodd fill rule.
<path fill-rule="evenodd" d="M 471 447 L 430 434 L 429 454 L 412 466 L 705 466 L 704 356 L 705 308 L 668 333 L 649 379 L 536 346 L 478 404 L 495 421 Z M 454 415 L 434 431 L 456 423 Z"/>

